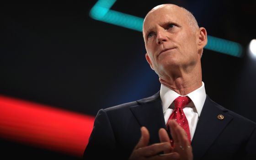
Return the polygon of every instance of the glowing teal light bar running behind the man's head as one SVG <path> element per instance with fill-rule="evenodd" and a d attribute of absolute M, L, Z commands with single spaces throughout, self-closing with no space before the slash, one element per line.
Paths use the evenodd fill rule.
<path fill-rule="evenodd" d="M 110 10 L 116 1 L 117 0 L 98 0 L 96 4 L 91 8 L 91 18 L 142 32 L 144 18 Z M 243 48 L 239 43 L 213 37 L 210 35 L 207 37 L 208 43 L 205 46 L 206 49 L 235 57 L 242 56 Z"/>

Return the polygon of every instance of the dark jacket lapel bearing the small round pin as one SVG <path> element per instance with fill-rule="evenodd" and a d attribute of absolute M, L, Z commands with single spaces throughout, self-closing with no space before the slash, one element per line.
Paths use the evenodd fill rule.
<path fill-rule="evenodd" d="M 224 119 L 219 119 L 218 115 L 223 115 Z M 208 96 L 206 97 L 192 139 L 192 149 L 195 160 L 200 160 L 203 157 L 214 140 L 232 119 L 233 117 L 228 114 L 228 110 L 211 101 Z"/>

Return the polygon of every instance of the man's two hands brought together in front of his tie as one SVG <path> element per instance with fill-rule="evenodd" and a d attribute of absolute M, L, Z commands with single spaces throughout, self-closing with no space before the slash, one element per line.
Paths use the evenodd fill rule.
<path fill-rule="evenodd" d="M 192 148 L 187 139 L 187 133 L 175 122 L 171 121 L 171 135 L 175 142 L 171 146 L 169 136 L 164 128 L 159 130 L 160 143 L 149 143 L 149 131 L 141 128 L 141 137 L 133 149 L 129 160 L 192 160 Z M 164 154 L 159 154 L 164 152 Z"/>

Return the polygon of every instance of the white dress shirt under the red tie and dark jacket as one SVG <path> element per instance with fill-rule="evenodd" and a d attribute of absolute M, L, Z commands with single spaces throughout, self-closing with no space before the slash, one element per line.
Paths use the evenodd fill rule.
<path fill-rule="evenodd" d="M 174 100 L 178 96 L 181 96 L 181 95 L 171 90 L 170 88 L 166 87 L 165 85 L 161 85 L 160 98 L 162 100 L 165 124 L 167 123 L 174 109 Z M 188 96 L 192 100 L 189 104 L 187 104 L 185 108 L 183 108 L 183 112 L 187 117 L 189 129 L 190 129 L 191 141 L 192 141 L 196 127 L 197 127 L 197 122 L 202 112 L 204 101 L 206 99 L 204 83 L 202 82 L 202 86 L 200 88 L 197 88 L 195 91 L 190 92 L 186 96 Z"/>

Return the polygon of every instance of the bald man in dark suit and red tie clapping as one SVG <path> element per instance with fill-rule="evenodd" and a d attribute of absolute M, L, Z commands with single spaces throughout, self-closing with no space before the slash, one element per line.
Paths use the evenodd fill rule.
<path fill-rule="evenodd" d="M 177 5 L 158 5 L 144 19 L 143 37 L 160 92 L 100 110 L 84 158 L 256 159 L 256 123 L 205 93 L 201 57 L 207 32 L 194 16 Z"/>

